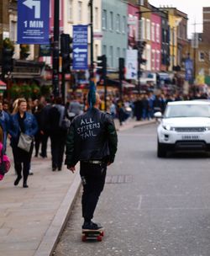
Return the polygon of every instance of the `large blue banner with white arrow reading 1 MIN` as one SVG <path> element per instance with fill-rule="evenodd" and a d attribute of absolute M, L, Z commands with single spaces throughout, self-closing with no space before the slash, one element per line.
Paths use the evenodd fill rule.
<path fill-rule="evenodd" d="M 18 0 L 18 44 L 49 44 L 50 0 Z"/>

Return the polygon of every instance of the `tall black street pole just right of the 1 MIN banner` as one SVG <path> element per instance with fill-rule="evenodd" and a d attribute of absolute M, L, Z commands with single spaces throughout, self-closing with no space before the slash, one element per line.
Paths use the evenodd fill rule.
<path fill-rule="evenodd" d="M 60 3 L 59 0 L 54 2 L 54 40 L 53 40 L 53 94 L 54 97 L 59 96 L 59 13 Z"/>

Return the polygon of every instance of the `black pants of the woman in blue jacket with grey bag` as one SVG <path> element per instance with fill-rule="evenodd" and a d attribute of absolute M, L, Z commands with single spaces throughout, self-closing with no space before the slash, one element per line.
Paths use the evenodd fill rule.
<path fill-rule="evenodd" d="M 22 170 L 24 175 L 24 183 L 27 183 L 27 179 L 29 176 L 29 168 L 31 162 L 31 155 L 33 151 L 33 143 L 30 148 L 30 152 L 26 152 L 21 148 L 18 148 L 16 145 L 13 146 L 13 162 L 14 169 L 18 175 L 21 177 Z"/>

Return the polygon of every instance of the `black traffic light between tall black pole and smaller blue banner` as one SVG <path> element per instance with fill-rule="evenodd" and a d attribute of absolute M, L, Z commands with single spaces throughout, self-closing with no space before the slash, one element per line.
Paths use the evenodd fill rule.
<path fill-rule="evenodd" d="M 62 56 L 62 72 L 71 72 L 71 52 L 72 52 L 72 38 L 69 34 L 60 35 L 60 53 Z"/>

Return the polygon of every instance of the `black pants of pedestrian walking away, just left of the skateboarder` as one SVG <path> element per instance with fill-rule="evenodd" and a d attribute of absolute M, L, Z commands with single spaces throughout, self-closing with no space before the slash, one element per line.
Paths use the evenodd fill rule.
<path fill-rule="evenodd" d="M 61 168 L 66 145 L 66 132 L 51 134 L 50 139 L 52 168 Z"/>

